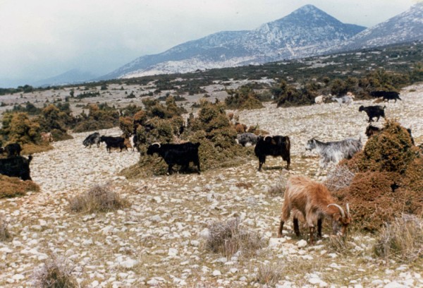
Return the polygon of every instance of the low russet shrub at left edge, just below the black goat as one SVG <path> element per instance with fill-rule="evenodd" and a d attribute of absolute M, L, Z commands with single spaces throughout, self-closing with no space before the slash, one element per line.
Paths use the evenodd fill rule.
<path fill-rule="evenodd" d="M 39 186 L 30 180 L 0 175 L 0 198 L 24 196 L 29 191 L 39 192 Z"/>

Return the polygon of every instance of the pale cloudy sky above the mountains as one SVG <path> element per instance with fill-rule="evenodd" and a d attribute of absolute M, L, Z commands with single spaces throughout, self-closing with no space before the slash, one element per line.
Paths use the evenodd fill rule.
<path fill-rule="evenodd" d="M 372 27 L 422 0 L 0 0 L 0 88 L 77 68 L 102 76 L 214 32 L 252 30 L 312 4 Z"/>

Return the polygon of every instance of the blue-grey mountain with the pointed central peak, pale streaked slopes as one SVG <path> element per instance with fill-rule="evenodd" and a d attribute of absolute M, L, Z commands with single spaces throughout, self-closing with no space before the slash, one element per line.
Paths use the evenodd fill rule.
<path fill-rule="evenodd" d="M 306 5 L 255 30 L 217 32 L 179 44 L 161 54 L 142 56 L 99 80 L 185 73 L 311 56 L 328 51 L 364 29 L 341 23 L 315 6 Z"/>

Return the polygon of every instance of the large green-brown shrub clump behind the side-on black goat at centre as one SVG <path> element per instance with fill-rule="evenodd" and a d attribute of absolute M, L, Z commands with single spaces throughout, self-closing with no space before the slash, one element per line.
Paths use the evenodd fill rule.
<path fill-rule="evenodd" d="M 226 116 L 222 104 L 212 104 L 202 101 L 202 108 L 195 118 L 193 115 L 188 118 L 185 131 L 179 135 L 176 133 L 183 124 L 180 116 L 173 116 L 171 119 L 160 119 L 154 117 L 145 122 L 152 124 L 154 128 L 147 133 L 145 127 L 137 128 L 137 135 L 141 143 L 140 163 L 124 169 L 122 174 L 128 178 L 136 176 L 166 174 L 167 165 L 160 161 L 157 155 L 145 155 L 147 145 L 153 142 L 175 142 L 178 140 L 200 143 L 199 158 L 202 171 L 216 167 L 233 167 L 247 161 L 247 156 L 252 155 L 252 150 L 243 148 L 235 143 L 236 131 Z"/>

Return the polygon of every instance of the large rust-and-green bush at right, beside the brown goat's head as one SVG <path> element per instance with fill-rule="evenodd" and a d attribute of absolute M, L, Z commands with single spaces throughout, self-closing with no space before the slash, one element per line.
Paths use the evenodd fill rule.
<path fill-rule="evenodd" d="M 343 203 L 350 203 L 358 227 L 375 232 L 403 212 L 422 214 L 422 154 L 396 121 L 386 121 L 381 133 L 369 138 L 361 152 L 340 165 L 345 164 L 340 169 L 346 173 L 338 179 L 343 183 L 347 178 L 350 184 L 334 192 Z M 329 184 L 334 186 L 331 179 Z"/>

